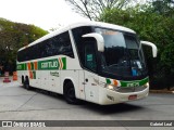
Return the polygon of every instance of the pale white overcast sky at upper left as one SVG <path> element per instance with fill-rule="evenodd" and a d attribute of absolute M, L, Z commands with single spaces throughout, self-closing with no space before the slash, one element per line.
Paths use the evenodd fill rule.
<path fill-rule="evenodd" d="M 0 0 L 0 17 L 46 30 L 88 21 L 73 12 L 65 0 Z"/>

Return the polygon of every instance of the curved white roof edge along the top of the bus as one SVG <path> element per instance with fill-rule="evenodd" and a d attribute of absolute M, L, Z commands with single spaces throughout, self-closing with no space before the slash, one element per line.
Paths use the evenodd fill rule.
<path fill-rule="evenodd" d="M 120 25 L 108 24 L 108 23 L 102 23 L 102 22 L 86 21 L 86 22 L 71 24 L 66 27 L 62 27 L 59 30 L 55 30 L 53 32 L 50 32 L 50 34 L 37 39 L 36 41 L 29 43 L 28 46 L 21 48 L 18 51 L 24 50 L 27 47 L 32 47 L 34 44 L 37 44 L 38 42 L 45 41 L 45 40 L 47 40 L 51 37 L 54 37 L 54 36 L 59 35 L 61 32 L 64 32 L 69 29 L 76 28 L 76 27 L 82 27 L 82 26 L 97 26 L 97 27 L 104 27 L 104 28 L 117 29 L 117 30 L 122 30 L 122 31 L 126 31 L 126 32 L 136 34 L 133 29 L 129 29 L 129 28 L 126 28 L 126 27 L 123 27 L 123 26 L 120 26 Z"/>

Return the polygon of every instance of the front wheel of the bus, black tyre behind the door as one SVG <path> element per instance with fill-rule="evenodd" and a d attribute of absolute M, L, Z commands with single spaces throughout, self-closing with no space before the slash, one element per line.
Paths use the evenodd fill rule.
<path fill-rule="evenodd" d="M 63 95 L 65 98 L 65 101 L 69 104 L 77 104 L 78 103 L 78 100 L 75 96 L 74 86 L 71 81 L 69 81 L 64 84 Z"/>

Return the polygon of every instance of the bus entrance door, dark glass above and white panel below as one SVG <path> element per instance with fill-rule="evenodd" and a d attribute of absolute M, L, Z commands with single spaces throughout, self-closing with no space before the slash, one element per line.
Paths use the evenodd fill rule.
<path fill-rule="evenodd" d="M 84 42 L 84 69 L 86 100 L 98 102 L 97 44 L 94 39 Z"/>

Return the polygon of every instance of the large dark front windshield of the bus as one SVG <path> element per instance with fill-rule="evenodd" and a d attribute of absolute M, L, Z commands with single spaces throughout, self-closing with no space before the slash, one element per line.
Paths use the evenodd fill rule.
<path fill-rule="evenodd" d="M 104 52 L 101 53 L 102 73 L 125 78 L 147 75 L 142 50 L 135 34 L 99 27 L 95 30 L 104 39 Z"/>

